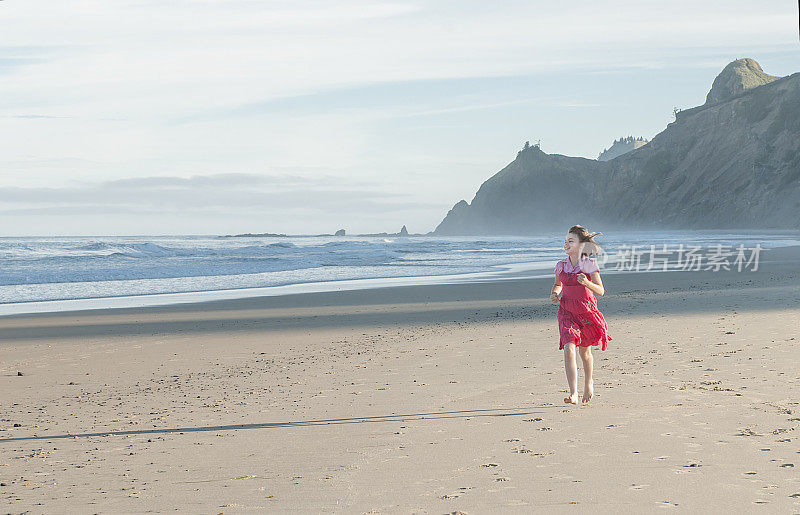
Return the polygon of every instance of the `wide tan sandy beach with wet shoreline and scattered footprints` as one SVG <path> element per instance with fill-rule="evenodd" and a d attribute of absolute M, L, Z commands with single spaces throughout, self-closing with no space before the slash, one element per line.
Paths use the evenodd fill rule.
<path fill-rule="evenodd" d="M 798 264 L 0 317 L 0 511 L 798 513 Z"/>

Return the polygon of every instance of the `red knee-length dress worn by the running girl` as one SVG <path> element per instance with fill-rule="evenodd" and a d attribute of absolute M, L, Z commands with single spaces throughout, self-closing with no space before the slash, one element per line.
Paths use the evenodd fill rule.
<path fill-rule="evenodd" d="M 608 334 L 608 326 L 603 314 L 597 309 L 597 299 L 592 290 L 578 282 L 578 274 L 586 275 L 598 271 L 593 259 L 584 258 L 573 267 L 569 257 L 556 264 L 555 273 L 561 279 L 562 295 L 558 304 L 558 332 L 561 336 L 558 348 L 563 349 L 569 342 L 580 347 L 596 347 L 602 350 L 613 338 Z"/>

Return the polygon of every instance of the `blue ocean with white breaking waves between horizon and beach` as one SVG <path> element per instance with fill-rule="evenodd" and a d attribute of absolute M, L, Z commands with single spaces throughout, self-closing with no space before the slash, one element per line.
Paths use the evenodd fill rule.
<path fill-rule="evenodd" d="M 564 257 L 563 238 L 6 237 L 0 314 L 549 276 Z M 604 271 L 613 272 L 634 246 L 766 249 L 800 245 L 800 232 L 627 232 L 597 241 Z"/>

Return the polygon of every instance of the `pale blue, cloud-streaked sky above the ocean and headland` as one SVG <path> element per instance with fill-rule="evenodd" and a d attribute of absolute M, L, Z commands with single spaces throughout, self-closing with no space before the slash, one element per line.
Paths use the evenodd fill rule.
<path fill-rule="evenodd" d="M 595 159 L 734 59 L 800 71 L 797 8 L 2 1 L 0 236 L 425 233 L 525 141 Z"/>

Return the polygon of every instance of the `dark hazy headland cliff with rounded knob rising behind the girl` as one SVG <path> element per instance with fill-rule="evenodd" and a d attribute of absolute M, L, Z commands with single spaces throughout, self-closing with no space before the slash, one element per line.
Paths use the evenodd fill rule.
<path fill-rule="evenodd" d="M 678 112 L 647 145 L 611 161 L 523 150 L 471 203 L 457 203 L 434 234 L 533 234 L 574 223 L 595 230 L 796 228 L 800 73 L 764 82 L 760 70 L 728 65 L 720 76 L 741 80 L 717 77 L 714 87 L 737 83 L 741 90 L 718 88 L 711 102 Z"/>

